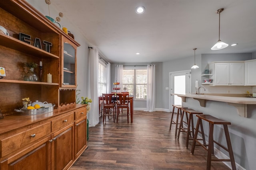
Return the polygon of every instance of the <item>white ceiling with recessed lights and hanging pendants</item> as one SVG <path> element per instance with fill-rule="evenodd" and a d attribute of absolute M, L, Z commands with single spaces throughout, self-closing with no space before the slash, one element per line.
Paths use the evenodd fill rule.
<path fill-rule="evenodd" d="M 111 63 L 256 51 L 256 0 L 52 0 Z M 144 14 L 135 9 L 144 6 Z M 220 39 L 226 49 L 212 51 Z M 231 47 L 232 43 L 238 45 Z M 136 55 L 135 53 L 140 53 Z"/>

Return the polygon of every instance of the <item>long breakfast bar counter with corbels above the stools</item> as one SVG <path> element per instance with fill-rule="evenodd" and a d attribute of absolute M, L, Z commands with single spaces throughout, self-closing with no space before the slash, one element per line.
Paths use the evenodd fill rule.
<path fill-rule="evenodd" d="M 186 102 L 187 98 L 193 98 L 198 100 L 200 106 L 205 107 L 205 102 L 207 100 L 227 102 L 229 105 L 237 108 L 238 115 L 242 117 L 247 117 L 247 105 L 255 104 L 256 98 L 246 97 L 244 94 L 174 94 L 182 98 L 182 102 Z"/>

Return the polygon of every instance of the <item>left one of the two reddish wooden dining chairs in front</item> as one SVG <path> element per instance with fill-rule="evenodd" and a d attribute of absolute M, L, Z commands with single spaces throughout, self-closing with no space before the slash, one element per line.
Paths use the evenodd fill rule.
<path fill-rule="evenodd" d="M 116 116 L 116 97 L 114 94 L 102 94 L 103 100 L 103 123 L 106 120 L 106 116 L 113 116 L 115 122 Z"/>

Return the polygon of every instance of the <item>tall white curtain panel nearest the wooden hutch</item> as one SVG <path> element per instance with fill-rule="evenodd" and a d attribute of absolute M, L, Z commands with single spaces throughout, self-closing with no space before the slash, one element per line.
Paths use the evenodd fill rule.
<path fill-rule="evenodd" d="M 91 109 L 89 112 L 89 126 L 95 126 L 100 122 L 99 119 L 99 99 L 98 99 L 98 64 L 99 52 L 97 49 L 90 49 L 89 54 L 89 74 L 90 84 L 88 87 L 88 97 L 92 99 Z"/>

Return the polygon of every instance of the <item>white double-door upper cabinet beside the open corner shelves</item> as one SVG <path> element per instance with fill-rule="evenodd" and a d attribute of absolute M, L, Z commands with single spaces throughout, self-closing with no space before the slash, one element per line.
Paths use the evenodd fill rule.
<path fill-rule="evenodd" d="M 213 86 L 244 86 L 244 61 L 215 61 L 209 68 Z"/>

